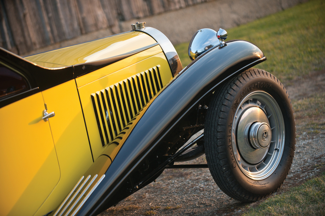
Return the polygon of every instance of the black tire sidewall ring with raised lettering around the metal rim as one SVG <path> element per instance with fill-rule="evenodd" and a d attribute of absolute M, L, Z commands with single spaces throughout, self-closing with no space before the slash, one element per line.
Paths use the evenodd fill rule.
<path fill-rule="evenodd" d="M 270 73 L 267 73 L 270 75 Z M 275 78 L 276 79 L 276 78 Z M 276 79 L 277 80 L 277 79 Z M 274 173 L 263 180 L 253 180 L 247 177 L 238 167 L 232 147 L 232 123 L 234 115 L 243 99 L 250 93 L 255 91 L 264 91 L 270 94 L 278 103 L 285 123 L 285 144 L 281 160 L 276 167 Z M 237 182 L 244 187 L 244 189 L 260 195 L 267 195 L 275 191 L 284 181 L 287 173 L 289 172 L 292 158 L 294 154 L 294 140 L 295 140 L 295 126 L 294 116 L 291 101 L 285 91 L 285 88 L 279 82 L 270 77 L 253 77 L 250 78 L 240 89 L 237 91 L 234 99 L 231 102 L 230 110 L 227 117 L 226 124 L 226 146 L 227 158 L 230 164 L 231 172 L 233 173 Z"/>

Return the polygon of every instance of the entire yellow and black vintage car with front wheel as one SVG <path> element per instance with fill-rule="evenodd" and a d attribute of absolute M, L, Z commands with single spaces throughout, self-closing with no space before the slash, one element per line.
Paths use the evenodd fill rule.
<path fill-rule="evenodd" d="M 281 186 L 294 116 L 280 81 L 252 69 L 262 51 L 200 29 L 182 68 L 144 24 L 25 58 L 0 48 L 1 216 L 95 216 L 167 168 L 209 168 L 242 202 Z"/>

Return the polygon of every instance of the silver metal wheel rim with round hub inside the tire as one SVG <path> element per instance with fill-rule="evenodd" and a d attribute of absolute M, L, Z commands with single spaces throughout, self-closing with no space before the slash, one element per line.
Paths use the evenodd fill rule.
<path fill-rule="evenodd" d="M 237 165 L 251 179 L 270 176 L 284 148 L 284 120 L 275 99 L 266 92 L 247 95 L 232 125 L 232 147 Z"/>

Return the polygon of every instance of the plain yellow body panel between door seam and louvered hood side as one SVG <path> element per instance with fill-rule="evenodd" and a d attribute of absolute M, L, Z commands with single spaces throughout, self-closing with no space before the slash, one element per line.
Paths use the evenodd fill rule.
<path fill-rule="evenodd" d="M 49 118 L 49 125 L 61 178 L 49 199 L 37 212 L 39 216 L 56 208 L 93 163 L 75 80 L 42 93 L 48 112 L 55 112 L 55 116 Z"/>

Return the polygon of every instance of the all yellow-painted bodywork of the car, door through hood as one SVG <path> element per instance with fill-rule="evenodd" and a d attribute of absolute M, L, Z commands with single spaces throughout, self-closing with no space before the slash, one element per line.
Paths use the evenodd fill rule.
<path fill-rule="evenodd" d="M 0 108 L 0 215 L 42 216 L 59 205 L 104 150 L 110 149 L 109 157 L 114 159 L 121 147 L 112 144 L 116 135 L 111 132 L 112 135 L 101 138 L 98 133 L 92 99 L 103 105 L 103 101 L 97 101 L 96 97 L 101 91 L 109 89 L 115 97 L 123 97 L 125 101 L 126 89 L 130 99 L 130 93 L 139 92 L 146 103 L 173 77 L 159 44 L 147 34 L 137 31 L 25 58 L 46 70 L 55 71 L 70 65 L 125 55 L 144 46 L 150 48 Z M 0 63 L 2 67 L 19 73 L 6 62 Z M 160 86 L 146 80 L 145 85 L 127 86 L 122 91 L 119 88 L 128 81 L 137 81 L 140 76 L 150 79 L 158 72 Z M 138 95 L 132 97 L 137 98 Z M 113 101 L 104 102 L 113 104 Z M 113 107 L 118 118 L 110 120 L 115 121 L 115 125 L 121 125 L 115 129 L 117 133 L 145 105 L 144 101 L 140 102 L 130 109 L 123 107 L 125 104 L 117 105 L 122 112 Z M 42 120 L 45 104 L 49 112 L 55 112 L 55 116 L 46 122 Z M 99 114 L 101 107 L 96 108 Z M 103 123 L 100 124 L 102 126 Z"/>

